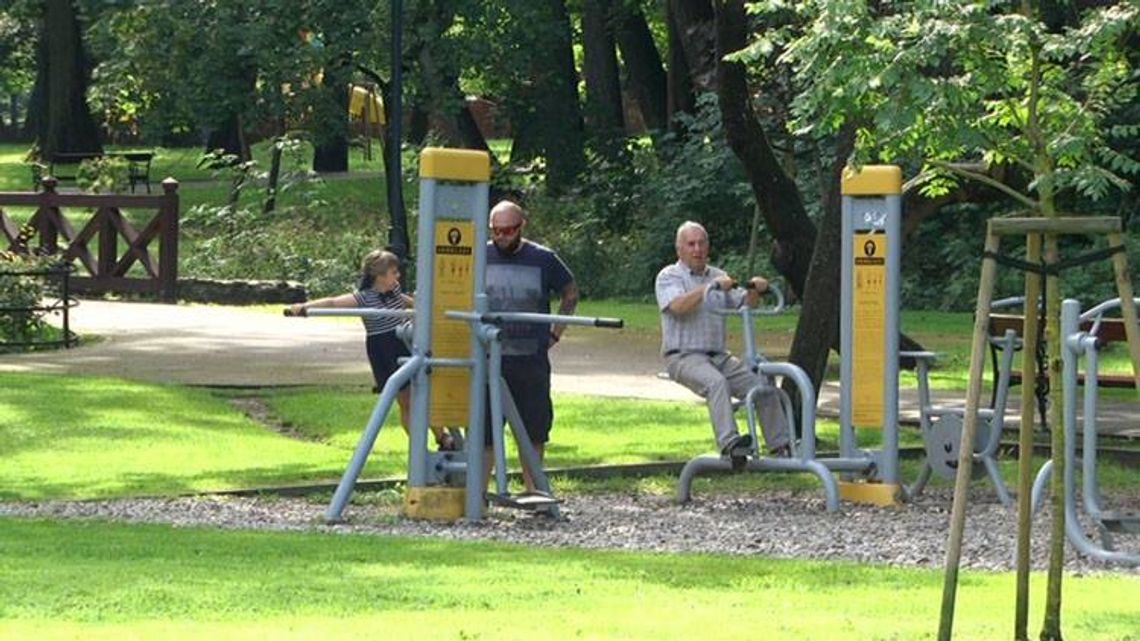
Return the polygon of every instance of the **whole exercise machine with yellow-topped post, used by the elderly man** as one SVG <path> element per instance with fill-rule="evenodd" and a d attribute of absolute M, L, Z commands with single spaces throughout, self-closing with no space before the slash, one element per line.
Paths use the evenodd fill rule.
<path fill-rule="evenodd" d="M 902 170 L 894 165 L 866 165 L 860 171 L 848 171 L 842 178 L 841 194 L 839 456 L 816 457 L 816 393 L 811 380 L 790 363 L 764 360 L 756 351 L 751 336 L 749 310 L 728 311 L 744 319 L 744 349 L 749 365 L 759 373 L 789 378 L 797 386 L 803 400 L 800 431 L 804 440 L 791 460 L 757 457 L 755 449 L 743 463 L 733 462 L 731 457 L 693 459 L 682 470 L 677 492 L 679 501 L 689 500 L 689 486 L 694 473 L 733 466 L 816 473 L 828 493 L 828 508 L 832 510 L 838 501 L 833 497 L 834 492 L 838 492 L 839 498 L 879 505 L 895 504 L 905 498 L 898 471 L 898 359 L 901 356 L 925 357 L 925 362 L 920 359 L 926 367 L 925 373 L 933 355 L 899 354 L 898 350 Z M 922 382 L 925 386 L 925 379 Z M 926 406 L 930 409 L 929 389 L 925 387 L 923 391 Z M 749 396 L 752 396 L 751 392 Z M 782 392 L 780 398 L 782 404 L 790 405 Z M 749 430 L 756 443 L 755 413 L 751 403 L 747 405 Z M 934 413 L 926 415 L 930 425 L 937 419 L 939 416 Z M 856 428 L 881 430 L 881 447 L 860 448 Z M 838 486 L 831 472 L 842 477 Z"/>

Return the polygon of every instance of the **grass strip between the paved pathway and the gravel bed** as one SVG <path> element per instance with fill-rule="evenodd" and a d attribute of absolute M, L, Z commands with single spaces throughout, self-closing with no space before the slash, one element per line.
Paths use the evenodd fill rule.
<path fill-rule="evenodd" d="M 116 379 L 0 374 L 0 498 L 95 498 L 171 495 L 271 485 L 332 482 L 340 478 L 372 412 L 367 388 L 262 390 L 260 401 L 288 435 L 255 423 L 229 403 L 249 392 Z M 59 399 L 67 399 L 60 403 Z M 712 451 L 705 408 L 695 401 L 635 400 L 559 395 L 547 449 L 551 468 L 685 461 Z M 838 427 L 821 421 L 820 449 L 837 448 Z M 860 443 L 877 447 L 881 432 Z M 918 430 L 902 432 L 904 447 L 920 446 Z M 508 441 L 510 443 L 510 441 Z M 516 466 L 513 446 L 508 452 Z M 364 470 L 364 478 L 399 478 L 407 439 L 394 413 Z M 904 461 L 913 479 L 918 461 Z M 1040 461 L 1039 461 L 1040 464 Z M 1001 463 L 1007 482 L 1013 461 Z M 1134 472 L 1105 463 L 1108 490 L 1135 492 Z M 620 488 L 605 481 L 593 489 Z M 658 476 L 644 488 L 671 493 L 676 478 Z M 936 481 L 935 485 L 942 481 Z M 760 492 L 782 487 L 816 492 L 811 474 L 743 474 L 699 479 L 695 493 Z M 555 479 L 555 489 L 591 492 L 592 484 Z"/>

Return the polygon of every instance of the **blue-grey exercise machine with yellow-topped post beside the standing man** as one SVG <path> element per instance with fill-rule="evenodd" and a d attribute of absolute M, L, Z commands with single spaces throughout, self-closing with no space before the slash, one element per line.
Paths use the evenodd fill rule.
<path fill-rule="evenodd" d="M 400 388 L 412 383 L 408 484 L 404 512 L 413 518 L 479 520 L 487 500 L 557 514 L 538 454 L 499 378 L 499 334 L 504 323 L 540 323 L 621 327 L 618 318 L 551 314 L 489 313 L 483 290 L 487 265 L 487 214 L 490 156 L 486 152 L 429 147 L 420 157 L 420 220 L 415 309 L 309 309 L 308 316 L 410 316 L 410 356 L 388 380 L 360 435 L 352 457 L 325 511 L 342 520 L 357 479 Z M 496 492 L 483 486 L 487 398 Z M 507 492 L 503 417 L 515 435 L 519 456 L 538 494 Z M 466 425 L 461 452 L 431 452 L 429 425 Z"/>

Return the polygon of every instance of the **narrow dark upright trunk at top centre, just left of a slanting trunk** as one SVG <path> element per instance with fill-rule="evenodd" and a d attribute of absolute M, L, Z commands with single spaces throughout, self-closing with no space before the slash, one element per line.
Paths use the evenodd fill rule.
<path fill-rule="evenodd" d="M 581 17 L 586 127 L 601 152 L 616 157 L 625 137 L 621 79 L 611 29 L 612 0 L 586 0 Z"/>

